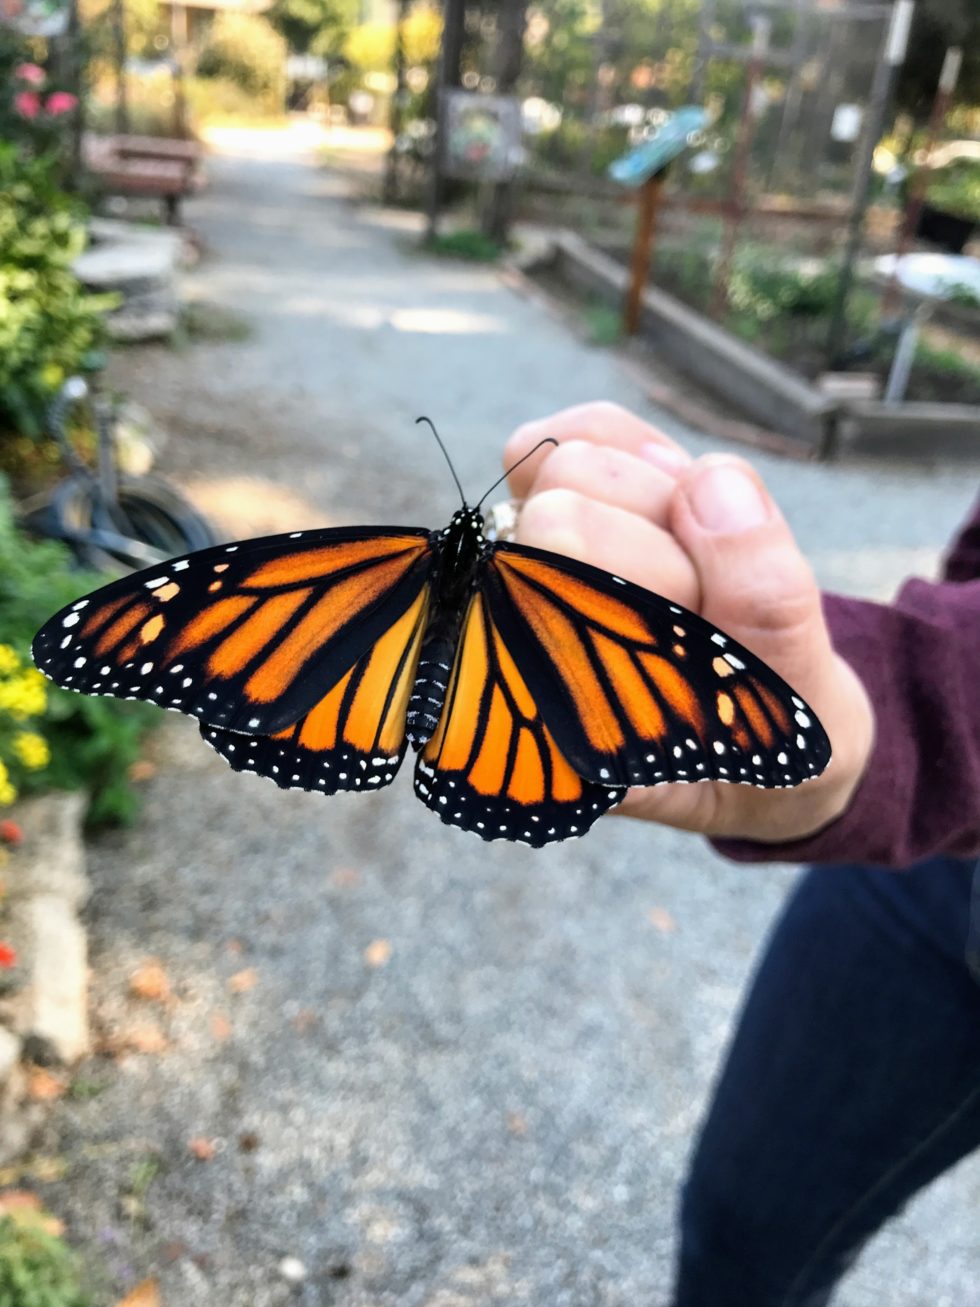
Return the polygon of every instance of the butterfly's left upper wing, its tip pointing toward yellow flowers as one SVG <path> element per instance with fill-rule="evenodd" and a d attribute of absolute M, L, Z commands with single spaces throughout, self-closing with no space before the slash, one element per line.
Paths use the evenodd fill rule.
<path fill-rule="evenodd" d="M 112 582 L 34 639 L 51 680 L 274 735 L 418 600 L 429 532 L 328 528 L 204 549 Z"/>

